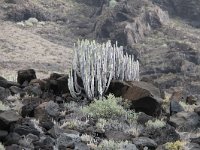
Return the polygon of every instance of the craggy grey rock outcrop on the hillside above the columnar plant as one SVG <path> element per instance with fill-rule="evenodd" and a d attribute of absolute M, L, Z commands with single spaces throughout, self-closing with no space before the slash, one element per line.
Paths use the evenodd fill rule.
<path fill-rule="evenodd" d="M 132 48 L 152 29 L 168 22 L 167 12 L 148 1 L 119 1 L 114 8 L 102 8 L 95 23 L 94 35 L 97 39 L 118 41 L 119 45 Z"/>

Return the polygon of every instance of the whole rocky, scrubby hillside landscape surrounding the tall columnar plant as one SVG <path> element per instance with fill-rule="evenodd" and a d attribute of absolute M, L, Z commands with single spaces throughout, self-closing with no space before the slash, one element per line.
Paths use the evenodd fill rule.
<path fill-rule="evenodd" d="M 5 148 L 200 149 L 199 3 L 0 1 Z M 72 98 L 66 74 L 73 43 L 84 38 L 118 41 L 139 60 L 141 81 L 112 81 L 114 95 L 98 105 Z"/>

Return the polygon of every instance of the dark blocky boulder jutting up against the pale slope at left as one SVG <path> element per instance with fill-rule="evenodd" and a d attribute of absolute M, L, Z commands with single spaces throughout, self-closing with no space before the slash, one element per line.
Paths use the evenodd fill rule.
<path fill-rule="evenodd" d="M 25 81 L 30 82 L 33 79 L 36 79 L 35 70 L 27 69 L 27 70 L 19 70 L 17 76 L 17 82 L 22 85 Z"/>

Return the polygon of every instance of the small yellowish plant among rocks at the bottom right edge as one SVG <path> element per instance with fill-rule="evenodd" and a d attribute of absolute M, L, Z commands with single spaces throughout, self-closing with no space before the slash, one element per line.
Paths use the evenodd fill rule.
<path fill-rule="evenodd" d="M 185 143 L 182 141 L 168 142 L 165 144 L 167 150 L 184 150 Z"/>

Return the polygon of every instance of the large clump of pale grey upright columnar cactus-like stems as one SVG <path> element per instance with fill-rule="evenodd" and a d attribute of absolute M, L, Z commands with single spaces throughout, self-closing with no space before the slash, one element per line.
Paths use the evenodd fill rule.
<path fill-rule="evenodd" d="M 78 80 L 82 81 L 82 86 Z M 74 58 L 69 74 L 69 90 L 73 97 L 80 98 L 84 91 L 87 98 L 102 97 L 112 79 L 139 80 L 139 62 L 133 56 L 123 54 L 117 42 L 112 46 L 82 40 L 74 45 Z"/>

